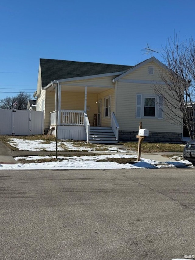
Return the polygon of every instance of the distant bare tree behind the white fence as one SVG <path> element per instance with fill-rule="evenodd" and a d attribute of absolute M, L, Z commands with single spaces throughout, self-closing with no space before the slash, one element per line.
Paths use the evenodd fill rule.
<path fill-rule="evenodd" d="M 31 99 L 31 95 L 25 93 L 24 91 L 20 91 L 19 94 L 15 97 L 6 97 L 0 100 L 0 108 L 2 109 L 18 109 L 18 110 L 26 110 L 28 100 Z"/>

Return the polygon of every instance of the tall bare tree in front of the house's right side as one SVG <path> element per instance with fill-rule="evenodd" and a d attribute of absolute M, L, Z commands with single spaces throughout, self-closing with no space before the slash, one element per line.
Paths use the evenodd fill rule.
<path fill-rule="evenodd" d="M 163 49 L 166 65 L 159 73 L 165 84 L 154 84 L 155 93 L 163 99 L 163 112 L 175 124 L 186 126 L 190 138 L 195 130 L 195 42 L 169 38 Z"/>

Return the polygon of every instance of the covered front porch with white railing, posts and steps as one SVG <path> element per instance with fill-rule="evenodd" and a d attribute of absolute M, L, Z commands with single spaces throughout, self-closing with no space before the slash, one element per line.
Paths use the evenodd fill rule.
<path fill-rule="evenodd" d="M 56 82 L 47 91 L 55 95 L 55 110 L 50 112 L 50 129 L 53 129 L 54 135 L 57 130 L 59 139 L 96 143 L 118 141 L 114 87 L 75 86 Z"/>

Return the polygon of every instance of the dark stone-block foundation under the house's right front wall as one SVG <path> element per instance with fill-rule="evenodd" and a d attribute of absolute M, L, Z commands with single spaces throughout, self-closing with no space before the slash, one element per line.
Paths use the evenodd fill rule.
<path fill-rule="evenodd" d="M 119 130 L 119 141 L 137 141 L 136 138 L 138 131 L 120 131 Z M 148 142 L 181 142 L 181 133 L 170 133 L 170 132 L 149 132 L 144 141 Z"/>

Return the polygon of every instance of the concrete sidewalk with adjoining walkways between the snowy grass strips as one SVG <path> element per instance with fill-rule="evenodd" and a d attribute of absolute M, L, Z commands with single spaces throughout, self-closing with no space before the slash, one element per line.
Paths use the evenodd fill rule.
<path fill-rule="evenodd" d="M 105 145 L 105 144 L 104 144 Z M 114 147 L 122 150 L 122 152 L 114 152 L 114 151 L 107 151 L 107 152 L 75 152 L 75 151 L 59 151 L 58 155 L 67 155 L 72 154 L 73 156 L 83 154 L 83 155 L 90 155 L 90 153 L 97 153 L 97 154 L 129 154 L 129 155 L 137 155 L 137 151 L 133 151 L 132 149 L 127 148 L 123 144 L 107 144 L 106 146 Z M 14 160 L 14 157 L 16 156 L 30 156 L 30 155 L 55 155 L 55 151 L 12 151 L 9 147 L 7 147 L 5 144 L 3 144 L 0 141 L 0 163 L 2 164 L 15 164 L 17 161 Z M 150 159 L 154 161 L 159 162 L 175 162 L 172 159 L 169 159 L 168 157 L 162 156 L 162 154 L 168 154 L 168 153 L 141 153 L 141 158 Z M 179 153 L 177 153 L 179 154 Z M 181 154 L 181 153 L 180 153 Z"/>

